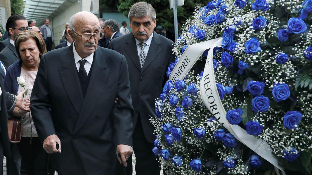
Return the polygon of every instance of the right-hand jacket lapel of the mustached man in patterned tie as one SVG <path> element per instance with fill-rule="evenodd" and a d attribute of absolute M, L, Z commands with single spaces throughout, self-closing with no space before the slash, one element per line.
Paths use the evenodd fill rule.
<path fill-rule="evenodd" d="M 151 45 L 149 46 L 149 52 L 147 53 L 147 56 L 145 58 L 145 62 L 143 65 L 143 68 L 141 70 L 141 73 L 149 66 L 150 63 L 153 62 L 153 60 L 157 57 L 158 53 L 160 52 L 161 48 L 158 46 L 160 44 L 160 39 L 158 37 L 158 34 L 154 32 Z"/>

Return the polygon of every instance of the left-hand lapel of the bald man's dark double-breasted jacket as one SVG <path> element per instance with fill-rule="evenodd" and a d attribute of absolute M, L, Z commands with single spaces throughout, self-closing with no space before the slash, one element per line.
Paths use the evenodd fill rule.
<path fill-rule="evenodd" d="M 61 68 L 59 68 L 59 73 L 71 103 L 79 114 L 83 103 L 83 95 L 79 83 L 73 45 L 64 49 L 64 53 L 64 59 Z"/>

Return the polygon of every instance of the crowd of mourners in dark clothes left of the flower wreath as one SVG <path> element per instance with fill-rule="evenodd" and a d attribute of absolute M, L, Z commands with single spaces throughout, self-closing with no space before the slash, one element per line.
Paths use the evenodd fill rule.
<path fill-rule="evenodd" d="M 156 13 L 147 2 L 134 4 L 128 18 L 132 32 L 125 21 L 119 28 L 114 19 L 78 12 L 53 50 L 49 19 L 40 29 L 23 15 L 7 19 L 0 160 L 3 153 L 8 175 L 130 175 L 133 152 L 136 174 L 159 175 L 149 118 L 175 60 L 174 43 L 154 32 Z M 22 123 L 18 143 L 7 137 L 12 118 Z"/>

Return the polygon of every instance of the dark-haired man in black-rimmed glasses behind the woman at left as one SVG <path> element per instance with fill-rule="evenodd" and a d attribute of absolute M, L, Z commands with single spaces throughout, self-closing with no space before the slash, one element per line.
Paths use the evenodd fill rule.
<path fill-rule="evenodd" d="M 22 31 L 28 30 L 28 22 L 23 15 L 15 14 L 7 19 L 6 30 L 11 36 L 9 44 L 0 53 L 0 60 L 8 68 L 17 61 L 17 54 L 14 47 L 14 39 Z"/>

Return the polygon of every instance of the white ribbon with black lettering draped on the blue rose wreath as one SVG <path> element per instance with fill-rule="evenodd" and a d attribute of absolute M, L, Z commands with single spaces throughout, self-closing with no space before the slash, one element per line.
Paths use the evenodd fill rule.
<path fill-rule="evenodd" d="M 272 154 L 273 150 L 266 141 L 247 134 L 246 130 L 238 125 L 230 124 L 226 119 L 227 112 L 219 97 L 213 70 L 213 48 L 221 47 L 221 43 L 222 37 L 219 37 L 189 45 L 171 72 L 169 80 L 171 80 L 173 84 L 175 84 L 178 79 L 182 80 L 205 50 L 210 49 L 200 85 L 200 94 L 203 103 L 215 118 L 222 123 L 223 127 L 226 128 L 238 141 L 270 162 L 274 166 L 277 175 L 280 175 L 279 170 L 285 175 L 283 167 L 278 164 L 278 159 Z"/>

